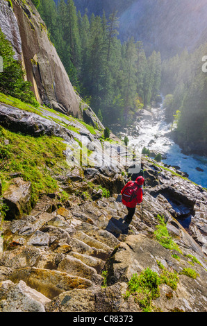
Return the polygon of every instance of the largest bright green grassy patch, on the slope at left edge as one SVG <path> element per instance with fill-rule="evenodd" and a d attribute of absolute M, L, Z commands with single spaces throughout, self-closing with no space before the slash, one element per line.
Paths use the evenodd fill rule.
<path fill-rule="evenodd" d="M 10 173 L 19 173 L 32 184 L 32 205 L 40 194 L 57 192 L 58 182 L 53 177 L 67 168 L 66 144 L 59 137 L 31 137 L 10 132 L 0 127 L 0 178 L 3 191 L 8 187 Z"/>

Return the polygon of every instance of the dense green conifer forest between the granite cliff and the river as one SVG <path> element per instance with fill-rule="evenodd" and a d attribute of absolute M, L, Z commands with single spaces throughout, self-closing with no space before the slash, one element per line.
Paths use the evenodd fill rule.
<path fill-rule="evenodd" d="M 116 12 L 81 16 L 74 1 L 40 0 L 38 11 L 78 94 L 104 124 L 124 126 L 160 94 L 161 58 L 142 42 L 118 39 Z"/>

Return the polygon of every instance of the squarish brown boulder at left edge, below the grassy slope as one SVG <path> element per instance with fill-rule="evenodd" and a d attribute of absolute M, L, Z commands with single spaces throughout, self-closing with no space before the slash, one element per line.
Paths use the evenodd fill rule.
<path fill-rule="evenodd" d="M 31 210 L 31 182 L 22 178 L 13 179 L 12 184 L 3 193 L 3 201 L 8 205 L 6 218 L 14 219 L 28 214 Z"/>

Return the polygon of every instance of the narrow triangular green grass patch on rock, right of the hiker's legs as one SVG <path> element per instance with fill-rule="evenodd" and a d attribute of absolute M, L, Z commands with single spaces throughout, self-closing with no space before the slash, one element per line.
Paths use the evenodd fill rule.
<path fill-rule="evenodd" d="M 159 224 L 156 225 L 156 230 L 154 231 L 154 238 L 158 241 L 163 247 L 169 250 L 177 250 L 182 253 L 179 246 L 173 241 L 172 237 L 169 236 L 167 226 L 165 224 L 163 216 L 158 214 L 157 216 Z"/>

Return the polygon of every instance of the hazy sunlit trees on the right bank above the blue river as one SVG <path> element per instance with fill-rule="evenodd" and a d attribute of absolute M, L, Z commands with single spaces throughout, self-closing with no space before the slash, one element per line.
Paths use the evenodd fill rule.
<path fill-rule="evenodd" d="M 179 144 L 202 144 L 203 153 L 207 144 L 207 73 L 202 58 L 206 53 L 207 43 L 194 53 L 185 50 L 164 61 L 161 85 L 167 117 L 177 120 Z"/>

